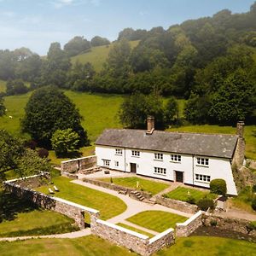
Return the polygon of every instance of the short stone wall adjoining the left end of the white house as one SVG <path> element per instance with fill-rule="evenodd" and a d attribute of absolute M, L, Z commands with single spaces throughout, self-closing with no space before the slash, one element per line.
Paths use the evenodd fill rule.
<path fill-rule="evenodd" d="M 78 172 L 96 166 L 96 155 L 90 155 L 73 160 L 61 162 L 61 173 L 63 172 Z"/>

